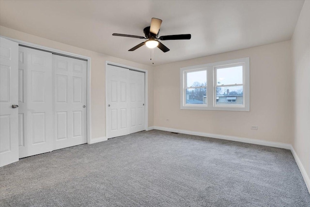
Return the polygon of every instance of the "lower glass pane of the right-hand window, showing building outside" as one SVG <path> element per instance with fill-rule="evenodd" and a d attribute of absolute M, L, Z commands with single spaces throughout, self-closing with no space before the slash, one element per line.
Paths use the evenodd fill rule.
<path fill-rule="evenodd" d="M 243 105 L 243 86 L 217 87 L 217 105 Z"/>

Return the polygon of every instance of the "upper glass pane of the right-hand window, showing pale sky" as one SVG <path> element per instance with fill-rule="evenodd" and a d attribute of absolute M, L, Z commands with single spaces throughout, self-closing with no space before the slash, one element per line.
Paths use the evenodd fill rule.
<path fill-rule="evenodd" d="M 217 85 L 242 84 L 242 66 L 217 69 Z"/>

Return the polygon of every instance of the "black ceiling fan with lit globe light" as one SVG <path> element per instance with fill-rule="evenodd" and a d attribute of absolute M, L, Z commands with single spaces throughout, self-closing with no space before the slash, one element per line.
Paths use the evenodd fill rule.
<path fill-rule="evenodd" d="M 151 20 L 151 26 L 146 27 L 143 29 L 144 35 L 143 36 L 137 36 L 137 35 L 130 35 L 130 34 L 118 34 L 113 33 L 113 36 L 121 36 L 121 37 L 133 37 L 133 38 L 139 38 L 139 39 L 148 39 L 145 42 L 140 43 L 139 45 L 129 49 L 128 51 L 134 51 L 138 48 L 140 48 L 143 45 L 146 45 L 148 48 L 159 48 L 163 52 L 168 52 L 170 49 L 164 46 L 161 42 L 158 40 L 189 40 L 191 38 L 191 34 L 174 34 L 174 35 L 165 35 L 158 37 L 159 34 L 159 28 L 161 25 L 162 20 L 157 18 L 152 18 Z"/>

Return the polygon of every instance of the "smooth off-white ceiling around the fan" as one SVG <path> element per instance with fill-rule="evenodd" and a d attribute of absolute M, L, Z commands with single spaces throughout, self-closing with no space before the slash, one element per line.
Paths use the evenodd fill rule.
<path fill-rule="evenodd" d="M 304 0 L 217 1 L 0 1 L 0 25 L 18 31 L 152 65 L 151 49 L 128 49 L 142 39 L 151 18 L 163 20 L 159 36 L 191 33 L 191 40 L 161 41 L 154 65 L 290 40 Z"/>

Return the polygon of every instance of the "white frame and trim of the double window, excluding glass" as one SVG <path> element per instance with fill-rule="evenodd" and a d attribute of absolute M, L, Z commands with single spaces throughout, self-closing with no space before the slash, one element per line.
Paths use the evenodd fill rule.
<path fill-rule="evenodd" d="M 243 105 L 224 104 L 217 105 L 216 97 L 216 69 L 243 65 Z M 207 71 L 207 97 L 206 104 L 186 104 L 186 73 Z M 237 84 L 239 85 L 239 84 Z M 180 109 L 188 110 L 217 110 L 217 111 L 250 111 L 250 69 L 249 57 L 217 63 L 194 65 L 180 69 Z M 234 86 L 234 85 L 232 85 Z"/>

